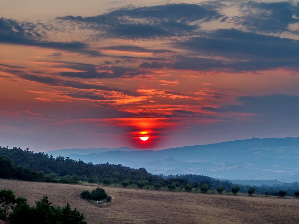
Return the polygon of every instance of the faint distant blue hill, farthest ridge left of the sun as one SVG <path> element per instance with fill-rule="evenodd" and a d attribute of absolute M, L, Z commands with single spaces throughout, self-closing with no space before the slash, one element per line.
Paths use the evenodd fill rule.
<path fill-rule="evenodd" d="M 80 155 L 87 155 L 92 153 L 101 153 L 101 152 L 108 152 L 108 151 L 138 151 L 133 148 L 129 147 L 119 147 L 119 148 L 69 148 L 69 149 L 58 149 L 53 151 L 48 151 L 49 155 L 53 157 L 57 156 L 66 156 L 69 154 L 80 154 Z"/>

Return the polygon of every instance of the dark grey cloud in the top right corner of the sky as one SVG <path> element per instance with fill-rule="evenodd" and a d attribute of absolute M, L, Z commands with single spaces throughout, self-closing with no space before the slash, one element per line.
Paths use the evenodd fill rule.
<path fill-rule="evenodd" d="M 241 24 L 247 30 L 281 33 L 289 31 L 289 24 L 299 22 L 299 4 L 292 1 L 249 1 L 240 7 L 242 16 L 234 17 L 231 21 Z"/>

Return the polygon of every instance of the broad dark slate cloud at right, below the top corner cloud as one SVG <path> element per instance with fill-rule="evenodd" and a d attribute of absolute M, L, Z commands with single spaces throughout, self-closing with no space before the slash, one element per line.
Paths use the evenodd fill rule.
<path fill-rule="evenodd" d="M 234 59 L 234 62 L 225 62 L 198 58 L 184 60 L 184 58 L 181 58 L 183 63 L 178 63 L 180 65 L 178 67 L 189 63 L 190 69 L 199 67 L 200 64 L 196 63 L 200 61 L 202 61 L 200 66 L 203 67 L 223 67 L 235 70 L 257 70 L 285 66 L 298 67 L 299 65 L 298 40 L 243 32 L 236 29 L 215 30 L 204 33 L 202 36 L 192 37 L 186 41 L 176 42 L 173 46 L 188 49 L 199 55 L 205 54 Z M 240 59 L 246 61 L 240 61 Z M 206 63 L 204 63 L 205 61 Z"/>

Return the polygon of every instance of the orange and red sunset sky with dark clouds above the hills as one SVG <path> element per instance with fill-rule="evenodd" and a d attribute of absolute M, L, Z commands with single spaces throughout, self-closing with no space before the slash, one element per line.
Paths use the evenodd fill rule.
<path fill-rule="evenodd" d="M 1 146 L 299 136 L 298 1 L 2 0 L 0 16 Z"/>

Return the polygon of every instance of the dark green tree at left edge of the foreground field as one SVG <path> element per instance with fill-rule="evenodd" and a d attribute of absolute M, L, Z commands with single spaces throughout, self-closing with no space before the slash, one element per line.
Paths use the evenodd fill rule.
<path fill-rule="evenodd" d="M 13 207 L 15 202 L 16 197 L 12 190 L 2 189 L 0 191 L 0 217 L 2 220 L 5 220 L 8 210 Z"/>

